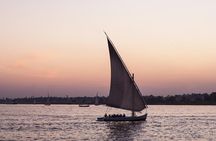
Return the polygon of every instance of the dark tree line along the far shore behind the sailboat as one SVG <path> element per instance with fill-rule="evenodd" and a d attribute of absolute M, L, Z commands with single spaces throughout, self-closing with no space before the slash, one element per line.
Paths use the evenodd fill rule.
<path fill-rule="evenodd" d="M 216 105 L 216 92 L 211 94 L 183 94 L 143 96 L 148 105 Z M 106 97 L 24 97 L 1 98 L 0 104 L 106 104 Z"/>

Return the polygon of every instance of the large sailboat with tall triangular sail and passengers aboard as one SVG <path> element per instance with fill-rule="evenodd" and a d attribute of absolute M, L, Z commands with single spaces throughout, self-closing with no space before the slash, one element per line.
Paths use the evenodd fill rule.
<path fill-rule="evenodd" d="M 105 33 L 111 64 L 111 84 L 106 106 L 130 110 L 131 116 L 107 115 L 98 117 L 98 121 L 145 121 L 145 114 L 137 116 L 136 112 L 147 109 L 147 104 L 134 81 L 134 74 L 130 74 L 114 44 Z"/>

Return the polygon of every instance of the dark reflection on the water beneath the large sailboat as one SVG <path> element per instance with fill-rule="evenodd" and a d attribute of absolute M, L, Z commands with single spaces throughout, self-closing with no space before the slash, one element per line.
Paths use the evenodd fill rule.
<path fill-rule="evenodd" d="M 134 140 L 136 134 L 141 131 L 144 121 L 137 122 L 107 122 L 107 140 L 127 141 Z"/>

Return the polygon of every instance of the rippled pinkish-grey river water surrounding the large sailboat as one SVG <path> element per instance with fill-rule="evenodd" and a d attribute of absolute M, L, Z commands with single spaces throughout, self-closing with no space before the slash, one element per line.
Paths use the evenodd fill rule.
<path fill-rule="evenodd" d="M 105 106 L 0 105 L 0 140 L 214 141 L 215 106 L 149 106 L 145 122 L 97 122 Z M 111 109 L 109 113 L 127 113 Z"/>

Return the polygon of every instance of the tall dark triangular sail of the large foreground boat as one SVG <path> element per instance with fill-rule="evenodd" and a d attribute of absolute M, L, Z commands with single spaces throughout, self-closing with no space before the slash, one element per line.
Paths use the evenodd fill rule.
<path fill-rule="evenodd" d="M 111 86 L 107 105 L 132 111 L 142 111 L 146 104 L 120 55 L 107 36 L 110 63 Z"/>

